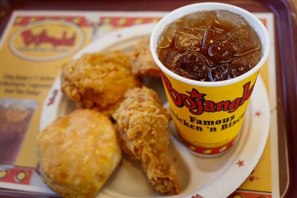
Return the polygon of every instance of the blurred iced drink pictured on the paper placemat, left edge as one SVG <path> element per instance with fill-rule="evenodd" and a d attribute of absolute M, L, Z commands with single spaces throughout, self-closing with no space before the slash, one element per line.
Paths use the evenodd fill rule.
<path fill-rule="evenodd" d="M 0 170 L 14 167 L 26 136 L 35 100 L 2 98 L 0 101 Z"/>

